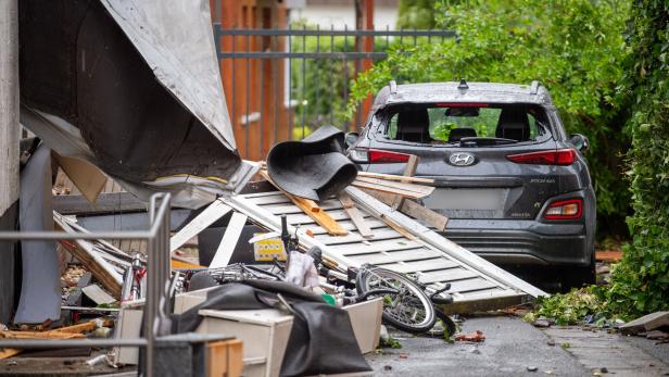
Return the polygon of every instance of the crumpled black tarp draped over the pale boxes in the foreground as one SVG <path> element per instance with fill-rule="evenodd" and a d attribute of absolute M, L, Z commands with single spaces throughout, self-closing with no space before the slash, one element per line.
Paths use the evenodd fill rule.
<path fill-rule="evenodd" d="M 312 376 L 371 370 L 363 356 L 349 314 L 314 293 L 282 281 L 248 280 L 226 284 L 207 292 L 206 301 L 173 315 L 175 332 L 193 331 L 201 323 L 201 309 L 254 310 L 276 307 L 277 293 L 295 312 L 281 376 Z"/>

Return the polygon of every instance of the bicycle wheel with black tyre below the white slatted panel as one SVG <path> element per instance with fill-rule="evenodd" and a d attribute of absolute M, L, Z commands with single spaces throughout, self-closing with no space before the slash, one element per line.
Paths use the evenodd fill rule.
<path fill-rule="evenodd" d="M 437 315 L 430 298 L 409 278 L 387 268 L 361 268 L 355 277 L 359 294 L 376 289 L 391 289 L 396 293 L 383 293 L 383 319 L 402 331 L 422 334 L 428 331 Z"/>

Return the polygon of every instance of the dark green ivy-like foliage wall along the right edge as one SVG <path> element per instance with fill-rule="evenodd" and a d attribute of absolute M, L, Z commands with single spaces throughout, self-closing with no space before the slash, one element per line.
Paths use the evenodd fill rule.
<path fill-rule="evenodd" d="M 628 153 L 633 240 L 608 299 L 631 315 L 669 310 L 669 3 L 635 0 L 622 96 L 633 109 Z"/>

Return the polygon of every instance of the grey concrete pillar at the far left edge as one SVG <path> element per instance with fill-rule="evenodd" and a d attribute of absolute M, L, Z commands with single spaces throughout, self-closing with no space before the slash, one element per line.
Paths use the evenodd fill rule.
<path fill-rule="evenodd" d="M 0 0 L 0 230 L 14 230 L 18 199 L 18 1 Z M 0 242 L 0 323 L 14 307 L 15 244 Z"/>

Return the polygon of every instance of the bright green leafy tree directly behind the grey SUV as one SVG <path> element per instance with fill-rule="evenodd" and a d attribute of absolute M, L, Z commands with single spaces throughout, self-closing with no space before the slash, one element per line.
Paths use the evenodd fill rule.
<path fill-rule="evenodd" d="M 352 85 L 349 114 L 390 79 L 402 83 L 541 80 L 568 133 L 590 138 L 588 153 L 605 219 L 623 218 L 629 192 L 620 179 L 628 140 L 615 101 L 623 70 L 628 0 L 470 0 L 438 2 L 437 27 L 457 39 L 393 46 L 389 58 Z M 605 228 L 606 223 L 605 223 Z M 606 229 L 605 229 L 606 230 Z"/>

